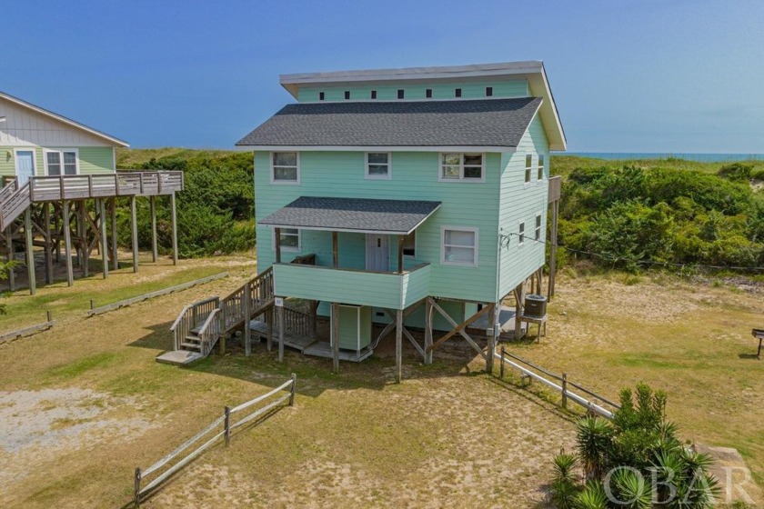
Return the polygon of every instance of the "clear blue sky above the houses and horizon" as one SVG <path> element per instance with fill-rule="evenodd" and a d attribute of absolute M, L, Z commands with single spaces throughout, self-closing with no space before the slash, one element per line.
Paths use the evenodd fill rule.
<path fill-rule="evenodd" d="M 135 147 L 230 148 L 286 73 L 543 60 L 570 151 L 764 153 L 764 2 L 14 2 L 0 90 Z"/>

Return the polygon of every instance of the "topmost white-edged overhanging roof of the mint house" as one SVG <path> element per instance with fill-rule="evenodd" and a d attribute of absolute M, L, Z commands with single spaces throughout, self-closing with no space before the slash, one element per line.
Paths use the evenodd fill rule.
<path fill-rule="evenodd" d="M 400 69 L 369 69 L 329 73 L 300 73 L 281 75 L 281 85 L 297 98 L 300 86 L 385 83 L 434 83 L 490 79 L 526 79 L 531 95 L 541 97 L 539 115 L 544 124 L 549 148 L 566 150 L 568 142 L 559 120 L 558 108 L 549 88 L 547 71 L 539 60 L 499 62 L 495 64 L 444 65 L 435 67 L 405 67 Z"/>

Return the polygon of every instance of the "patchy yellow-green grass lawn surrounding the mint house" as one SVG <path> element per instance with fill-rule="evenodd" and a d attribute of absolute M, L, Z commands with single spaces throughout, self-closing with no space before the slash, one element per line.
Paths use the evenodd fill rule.
<path fill-rule="evenodd" d="M 554 396 L 484 374 L 463 341 L 449 340 L 430 366 L 407 349 L 403 384 L 393 383 L 388 348 L 342 364 L 339 375 L 330 360 L 293 352 L 278 364 L 263 344 L 248 358 L 233 344 L 190 368 L 157 364 L 183 305 L 226 294 L 253 263 L 208 259 L 176 271 L 191 269 L 233 275 L 93 318 L 72 309 L 53 330 L 0 346 L 4 506 L 126 504 L 136 466 L 153 464 L 224 405 L 263 394 L 292 372 L 294 407 L 235 434 L 228 449 L 213 447 L 146 507 L 542 503 L 552 455 L 573 444 L 574 416 Z M 76 298 L 87 303 L 116 291 L 116 281 L 78 281 Z M 761 295 L 624 281 L 563 277 L 548 337 L 509 350 L 610 397 L 640 380 L 666 389 L 683 436 L 738 448 L 760 481 L 764 363 L 749 358 L 749 334 L 761 324 Z M 35 298 L 64 298 L 68 290 L 45 288 Z M 13 296 L 9 311 L 28 298 Z"/>

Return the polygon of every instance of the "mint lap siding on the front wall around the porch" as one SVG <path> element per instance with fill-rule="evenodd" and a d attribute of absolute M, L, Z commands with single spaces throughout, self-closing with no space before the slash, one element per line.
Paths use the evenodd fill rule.
<path fill-rule="evenodd" d="M 259 221 L 301 195 L 348 198 L 434 200 L 443 205 L 417 228 L 417 256 L 411 264 L 431 264 L 429 294 L 483 302 L 496 295 L 498 245 L 498 187 L 500 155 L 488 154 L 485 183 L 442 183 L 437 181 L 437 153 L 392 154 L 392 179 L 364 178 L 363 152 L 304 152 L 300 155 L 300 185 L 271 185 L 270 154 L 255 155 L 256 219 Z M 478 266 L 440 264 L 440 226 L 479 228 Z M 257 226 L 258 270 L 274 261 L 271 230 Z M 391 236 L 395 245 L 397 238 Z M 340 234 L 340 266 L 365 268 L 364 235 Z M 392 251 L 392 248 L 391 248 Z M 302 254 L 318 255 L 318 264 L 331 264 L 331 234 L 303 232 Z M 288 262 L 297 254 L 284 254 Z M 396 264 L 391 256 L 391 264 Z"/>

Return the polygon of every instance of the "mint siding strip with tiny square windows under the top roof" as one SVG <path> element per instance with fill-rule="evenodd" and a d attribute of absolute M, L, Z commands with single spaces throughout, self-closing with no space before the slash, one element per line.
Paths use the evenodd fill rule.
<path fill-rule="evenodd" d="M 451 82 L 437 84 L 411 84 L 401 83 L 398 85 L 330 85 L 330 86 L 306 86 L 300 87 L 297 92 L 297 100 L 300 103 L 318 101 L 319 93 L 324 93 L 325 101 L 345 101 L 345 92 L 350 92 L 350 101 L 368 101 L 371 99 L 371 91 L 377 91 L 377 101 L 397 101 L 397 91 L 404 90 L 406 100 L 428 100 L 425 91 L 432 89 L 432 99 L 454 99 L 454 89 L 462 89 L 463 99 L 486 97 L 486 87 L 493 87 L 493 97 L 528 97 L 527 80 L 496 80 L 479 82 Z"/>

